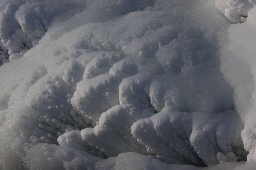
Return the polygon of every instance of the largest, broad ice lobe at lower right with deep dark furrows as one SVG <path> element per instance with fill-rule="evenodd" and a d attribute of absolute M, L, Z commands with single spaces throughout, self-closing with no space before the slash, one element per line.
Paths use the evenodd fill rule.
<path fill-rule="evenodd" d="M 238 158 L 245 159 L 243 124 L 235 111 L 190 114 L 165 107 L 157 115 L 137 121 L 131 129 L 147 152 L 169 163 L 216 165 L 218 152 L 236 152 Z"/>

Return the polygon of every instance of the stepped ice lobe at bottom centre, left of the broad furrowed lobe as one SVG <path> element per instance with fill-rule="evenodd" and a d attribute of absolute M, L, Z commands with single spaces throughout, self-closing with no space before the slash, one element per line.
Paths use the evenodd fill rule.
<path fill-rule="evenodd" d="M 134 105 L 117 105 L 102 113 L 95 128 L 81 130 L 82 139 L 97 147 L 107 158 L 132 151 L 147 154 L 145 147 L 132 137 L 131 126 L 152 115 Z"/>

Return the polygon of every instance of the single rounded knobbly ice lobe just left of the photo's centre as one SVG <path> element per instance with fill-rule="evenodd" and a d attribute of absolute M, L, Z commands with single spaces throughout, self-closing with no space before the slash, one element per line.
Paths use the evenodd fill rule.
<path fill-rule="evenodd" d="M 86 86 L 87 88 L 84 88 Z M 72 98 L 73 106 L 95 122 L 103 111 L 118 104 L 117 81 L 113 75 L 100 75 L 79 82 Z"/>

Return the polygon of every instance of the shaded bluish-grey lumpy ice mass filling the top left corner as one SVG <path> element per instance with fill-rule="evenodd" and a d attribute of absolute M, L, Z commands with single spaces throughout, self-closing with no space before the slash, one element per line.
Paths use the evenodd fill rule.
<path fill-rule="evenodd" d="M 82 11 L 83 5 L 79 1 L 71 3 L 49 0 L 7 3 L 0 13 L 0 38 L 4 46 L 1 50 L 9 57 L 32 48 L 37 44 L 37 39 L 44 36 L 54 17 L 59 14 L 70 17 Z M 12 57 L 11 60 L 16 58 Z"/>

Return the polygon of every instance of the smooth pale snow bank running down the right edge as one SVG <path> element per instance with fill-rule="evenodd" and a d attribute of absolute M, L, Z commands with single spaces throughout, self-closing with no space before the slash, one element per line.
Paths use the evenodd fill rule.
<path fill-rule="evenodd" d="M 248 161 L 255 161 L 255 9 L 248 13 L 246 23 L 229 28 L 230 44 L 223 48 L 222 71 L 234 88 L 236 110 L 245 127 L 242 139 L 249 151 Z M 239 41 L 237 41 L 239 39 Z M 238 64 L 239 63 L 239 64 Z"/>

